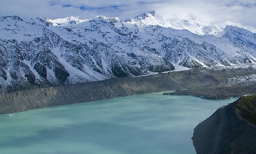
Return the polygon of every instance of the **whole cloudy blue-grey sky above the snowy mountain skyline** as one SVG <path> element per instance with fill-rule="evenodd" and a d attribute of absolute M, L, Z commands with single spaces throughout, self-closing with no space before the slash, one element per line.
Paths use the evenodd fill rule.
<path fill-rule="evenodd" d="M 232 21 L 256 28 L 256 0 L 0 0 L 0 16 L 58 19 L 95 16 L 130 19 L 147 11 L 159 16 L 194 14 L 208 23 Z"/>

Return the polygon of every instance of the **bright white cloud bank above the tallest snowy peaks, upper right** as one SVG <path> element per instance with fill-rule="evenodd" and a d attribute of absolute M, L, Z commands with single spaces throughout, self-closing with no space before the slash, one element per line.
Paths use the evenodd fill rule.
<path fill-rule="evenodd" d="M 234 21 L 243 26 L 255 26 L 255 1 L 220 1 L 220 0 L 191 0 L 175 1 L 174 3 L 154 4 L 154 10 L 162 16 L 169 14 L 194 14 L 201 19 L 216 23 Z"/>

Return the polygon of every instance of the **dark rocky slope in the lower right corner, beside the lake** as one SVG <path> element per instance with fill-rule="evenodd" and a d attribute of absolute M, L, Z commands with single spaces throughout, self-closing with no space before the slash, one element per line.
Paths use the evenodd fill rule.
<path fill-rule="evenodd" d="M 194 130 L 192 137 L 198 154 L 255 153 L 256 95 L 243 96 L 219 108 Z"/>

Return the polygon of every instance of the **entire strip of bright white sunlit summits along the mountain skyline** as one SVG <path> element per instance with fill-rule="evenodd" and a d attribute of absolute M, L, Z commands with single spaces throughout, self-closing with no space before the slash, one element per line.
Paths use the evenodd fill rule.
<path fill-rule="evenodd" d="M 94 19 L 103 19 L 109 22 L 122 21 L 118 17 L 96 16 Z M 53 26 L 74 26 L 74 24 L 81 24 L 84 21 L 90 21 L 94 19 L 81 19 L 79 16 L 69 16 L 64 19 L 45 19 L 49 21 Z M 136 25 L 158 25 L 162 27 L 169 27 L 172 29 L 187 29 L 193 34 L 197 35 L 214 35 L 223 36 L 226 26 L 237 26 L 239 28 L 247 29 L 256 33 L 256 29 L 252 26 L 241 26 L 232 21 L 223 21 L 221 23 L 207 23 L 200 17 L 193 14 L 171 14 L 169 16 L 160 16 L 155 11 L 148 11 L 134 18 L 124 21 L 127 24 Z"/>

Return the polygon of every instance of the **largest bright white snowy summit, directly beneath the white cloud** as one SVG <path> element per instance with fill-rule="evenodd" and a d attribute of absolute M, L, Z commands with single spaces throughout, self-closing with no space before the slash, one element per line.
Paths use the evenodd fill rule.
<path fill-rule="evenodd" d="M 149 11 L 125 22 L 137 25 L 159 25 L 172 29 L 187 29 L 193 34 L 222 36 L 226 26 L 237 26 L 253 33 L 256 32 L 252 26 L 241 26 L 232 21 L 210 24 L 193 14 L 171 14 L 168 17 L 159 16 L 155 11 Z"/>

